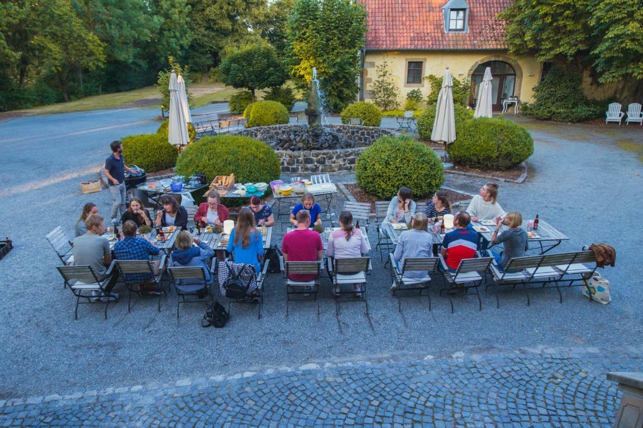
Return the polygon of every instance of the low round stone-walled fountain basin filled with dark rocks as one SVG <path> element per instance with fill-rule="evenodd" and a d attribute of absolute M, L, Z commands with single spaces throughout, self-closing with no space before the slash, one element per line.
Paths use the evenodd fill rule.
<path fill-rule="evenodd" d="M 359 125 L 272 125 L 237 132 L 270 145 L 280 159 L 282 172 L 352 171 L 361 152 L 394 130 Z"/>

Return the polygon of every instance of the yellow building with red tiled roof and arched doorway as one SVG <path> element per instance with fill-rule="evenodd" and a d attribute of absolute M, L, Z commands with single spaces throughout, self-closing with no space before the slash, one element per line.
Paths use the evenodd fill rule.
<path fill-rule="evenodd" d="M 368 11 L 363 51 L 360 98 L 370 100 L 376 66 L 384 60 L 400 89 L 400 102 L 412 89 L 424 96 L 430 84 L 424 76 L 442 76 L 449 67 L 454 77 L 471 80 L 471 105 L 485 67 L 491 67 L 494 109 L 502 100 L 532 98 L 542 65 L 533 57 L 520 60 L 507 53 L 504 23 L 496 16 L 512 0 L 361 0 Z"/>

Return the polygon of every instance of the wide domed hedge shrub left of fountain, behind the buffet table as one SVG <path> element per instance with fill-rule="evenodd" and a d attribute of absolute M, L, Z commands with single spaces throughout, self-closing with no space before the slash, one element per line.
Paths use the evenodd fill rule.
<path fill-rule="evenodd" d="M 203 172 L 208 181 L 235 174 L 235 183 L 257 183 L 279 178 L 281 166 L 272 147 L 254 138 L 236 135 L 204 137 L 183 149 L 176 173 Z"/>

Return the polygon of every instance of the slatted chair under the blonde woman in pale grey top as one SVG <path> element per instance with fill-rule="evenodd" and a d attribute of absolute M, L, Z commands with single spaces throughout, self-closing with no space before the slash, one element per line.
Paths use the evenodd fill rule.
<path fill-rule="evenodd" d="M 389 254 L 391 262 L 391 276 L 396 287 L 393 290 L 393 296 L 397 297 L 397 308 L 402 312 L 402 303 L 400 298 L 422 296 L 422 292 L 426 290 L 426 297 L 429 299 L 429 310 L 431 310 L 431 295 L 429 294 L 429 286 L 431 283 L 431 275 L 438 272 L 440 265 L 440 258 L 438 257 L 413 257 L 405 258 L 402 269 L 397 267 L 393 253 Z M 422 272 L 422 276 L 407 276 L 408 272 Z M 408 294 L 404 295 L 406 292 Z M 414 294 L 413 292 L 418 292 Z"/>

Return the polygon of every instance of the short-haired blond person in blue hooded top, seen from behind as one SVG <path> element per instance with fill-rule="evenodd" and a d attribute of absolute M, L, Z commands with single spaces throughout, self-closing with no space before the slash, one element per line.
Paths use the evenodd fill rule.
<path fill-rule="evenodd" d="M 192 242 L 198 245 L 195 247 Z M 199 238 L 192 238 L 192 234 L 186 230 L 179 232 L 176 236 L 176 249 L 170 255 L 170 267 L 203 267 L 206 283 L 212 285 L 213 278 L 210 274 L 210 260 L 214 256 L 214 250 L 208 244 L 201 242 Z M 174 286 L 186 293 L 193 293 L 203 289 L 203 281 L 198 280 L 177 280 Z"/>

